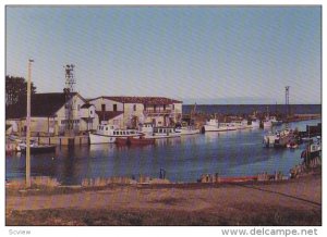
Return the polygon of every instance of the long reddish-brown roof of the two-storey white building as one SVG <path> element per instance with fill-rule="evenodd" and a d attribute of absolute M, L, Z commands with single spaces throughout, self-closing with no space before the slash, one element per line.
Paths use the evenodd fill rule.
<path fill-rule="evenodd" d="M 92 100 L 99 98 L 113 100 L 121 103 L 143 103 L 143 104 L 172 104 L 172 103 L 182 103 L 182 101 L 169 99 L 166 97 L 98 97 Z"/>

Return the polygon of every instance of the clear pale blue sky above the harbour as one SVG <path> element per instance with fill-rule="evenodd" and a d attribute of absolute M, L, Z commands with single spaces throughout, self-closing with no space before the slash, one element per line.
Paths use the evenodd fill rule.
<path fill-rule="evenodd" d="M 319 7 L 7 7 L 7 75 L 37 92 L 320 103 Z"/>

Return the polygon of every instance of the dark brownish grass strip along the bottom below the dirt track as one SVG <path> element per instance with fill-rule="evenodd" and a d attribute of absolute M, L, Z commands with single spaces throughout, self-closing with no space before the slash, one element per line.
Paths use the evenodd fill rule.
<path fill-rule="evenodd" d="M 244 211 L 246 210 L 246 211 Z M 254 211 L 255 210 L 255 211 Z M 239 211 L 242 212 L 239 213 Z M 234 207 L 233 211 L 76 210 L 50 209 L 7 213 L 8 226 L 317 226 L 322 212 L 279 207 Z"/>

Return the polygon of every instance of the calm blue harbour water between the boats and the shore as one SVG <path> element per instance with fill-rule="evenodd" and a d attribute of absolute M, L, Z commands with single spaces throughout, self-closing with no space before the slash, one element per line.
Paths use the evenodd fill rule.
<path fill-rule="evenodd" d="M 320 120 L 292 123 L 305 129 Z M 266 130 L 249 129 L 207 133 L 156 140 L 155 146 L 117 147 L 116 145 L 58 147 L 56 154 L 32 155 L 32 175 L 57 177 L 63 184 L 81 184 L 85 177 L 159 176 L 162 167 L 173 182 L 196 182 L 204 173 L 222 176 L 256 175 L 289 170 L 301 162 L 304 145 L 295 150 L 263 148 Z M 5 159 L 7 178 L 25 176 L 25 155 Z"/>

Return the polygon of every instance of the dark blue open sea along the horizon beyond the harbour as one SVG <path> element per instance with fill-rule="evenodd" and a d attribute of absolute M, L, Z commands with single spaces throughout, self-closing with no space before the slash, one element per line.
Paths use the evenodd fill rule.
<path fill-rule="evenodd" d="M 267 107 L 271 113 L 278 112 L 286 114 L 284 104 L 197 104 L 196 111 L 208 114 L 251 114 L 254 111 L 266 112 Z M 183 113 L 190 113 L 194 104 L 183 104 Z M 290 104 L 291 113 L 320 114 L 322 104 Z"/>

